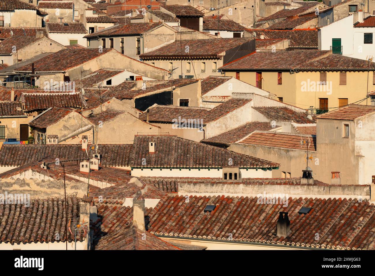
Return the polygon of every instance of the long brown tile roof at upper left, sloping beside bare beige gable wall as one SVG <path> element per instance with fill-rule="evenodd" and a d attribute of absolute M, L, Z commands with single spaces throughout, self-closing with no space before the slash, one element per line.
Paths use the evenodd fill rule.
<path fill-rule="evenodd" d="M 35 72 L 66 71 L 112 50 L 106 48 L 101 53 L 98 49 L 62 49 L 35 61 L 34 70 Z M 31 64 L 19 68 L 18 71 L 31 72 Z"/>

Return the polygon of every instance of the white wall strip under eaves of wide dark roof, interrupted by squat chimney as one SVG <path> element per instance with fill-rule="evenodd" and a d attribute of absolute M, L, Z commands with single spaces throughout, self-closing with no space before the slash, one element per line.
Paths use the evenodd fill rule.
<path fill-rule="evenodd" d="M 272 171 L 262 169 L 240 169 L 243 178 L 271 178 Z M 221 178 L 222 169 L 132 169 L 132 176 L 157 176 L 157 177 L 210 177 Z"/>

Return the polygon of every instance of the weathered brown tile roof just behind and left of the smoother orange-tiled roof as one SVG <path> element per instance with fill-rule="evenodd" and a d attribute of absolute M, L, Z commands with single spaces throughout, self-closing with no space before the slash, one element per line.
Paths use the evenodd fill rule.
<path fill-rule="evenodd" d="M 247 135 L 256 130 L 271 130 L 275 127 L 278 126 L 273 127 L 271 126 L 270 122 L 251 122 L 236 127 L 235 129 L 228 130 L 227 132 L 221 133 L 219 135 L 203 139 L 201 140 L 201 142 L 206 144 L 220 144 L 229 146 L 231 143 L 245 138 Z"/>

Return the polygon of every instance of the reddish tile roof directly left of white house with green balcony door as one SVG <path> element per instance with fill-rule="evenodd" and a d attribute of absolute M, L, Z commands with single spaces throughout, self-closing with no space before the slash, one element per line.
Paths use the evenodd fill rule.
<path fill-rule="evenodd" d="M 254 30 L 257 37 L 289 39 L 290 48 L 318 49 L 318 30 Z"/>

